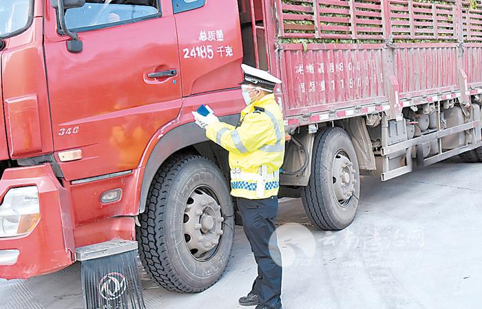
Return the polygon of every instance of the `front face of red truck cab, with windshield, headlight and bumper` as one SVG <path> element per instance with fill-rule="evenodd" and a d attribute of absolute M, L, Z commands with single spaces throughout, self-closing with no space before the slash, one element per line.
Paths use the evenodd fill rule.
<path fill-rule="evenodd" d="M 0 123 L 0 276 L 25 278 L 72 264 L 74 242 L 70 201 L 52 166 L 22 167 L 16 160 L 54 151 L 43 6 L 33 1 L 3 1 L 0 6 L 5 17 L 0 25 L 0 109 L 5 115 Z"/>

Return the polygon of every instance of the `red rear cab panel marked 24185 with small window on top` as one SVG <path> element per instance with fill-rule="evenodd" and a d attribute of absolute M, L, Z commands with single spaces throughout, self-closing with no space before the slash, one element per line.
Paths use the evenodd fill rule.
<path fill-rule="evenodd" d="M 242 39 L 237 0 L 172 0 L 182 94 L 239 87 Z"/>

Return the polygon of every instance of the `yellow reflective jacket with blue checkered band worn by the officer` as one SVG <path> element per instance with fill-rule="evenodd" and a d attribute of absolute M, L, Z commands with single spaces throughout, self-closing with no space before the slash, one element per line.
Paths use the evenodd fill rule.
<path fill-rule="evenodd" d="M 206 127 L 206 136 L 229 151 L 231 195 L 251 200 L 277 195 L 284 122 L 274 94 L 245 107 L 237 127 L 216 121 Z"/>

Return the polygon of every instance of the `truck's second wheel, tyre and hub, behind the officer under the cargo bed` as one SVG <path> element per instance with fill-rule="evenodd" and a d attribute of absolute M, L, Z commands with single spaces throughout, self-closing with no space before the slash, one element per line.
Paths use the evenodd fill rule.
<path fill-rule="evenodd" d="M 329 127 L 313 144 L 308 185 L 302 191 L 306 214 L 324 230 L 342 230 L 355 218 L 360 193 L 358 160 L 346 131 Z"/>

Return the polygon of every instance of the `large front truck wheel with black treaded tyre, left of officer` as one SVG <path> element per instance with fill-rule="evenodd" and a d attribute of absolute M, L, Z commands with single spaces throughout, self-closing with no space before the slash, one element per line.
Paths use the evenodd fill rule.
<path fill-rule="evenodd" d="M 201 292 L 220 279 L 231 255 L 234 216 L 216 164 L 198 155 L 163 164 L 139 220 L 140 259 L 160 286 Z"/>

